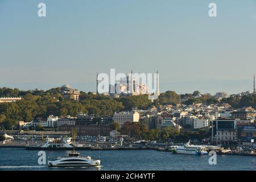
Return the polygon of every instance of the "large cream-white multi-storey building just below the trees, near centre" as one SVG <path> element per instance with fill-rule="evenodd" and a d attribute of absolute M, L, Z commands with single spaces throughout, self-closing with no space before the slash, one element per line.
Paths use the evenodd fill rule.
<path fill-rule="evenodd" d="M 125 122 L 138 122 L 139 113 L 137 111 L 115 113 L 113 116 L 113 121 L 118 122 L 121 126 Z"/>

